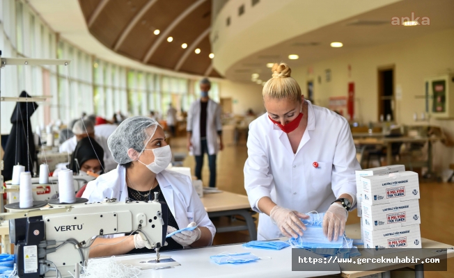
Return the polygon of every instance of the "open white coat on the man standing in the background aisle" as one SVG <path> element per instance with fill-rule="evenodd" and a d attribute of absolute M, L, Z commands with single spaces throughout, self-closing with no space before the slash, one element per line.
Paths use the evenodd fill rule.
<path fill-rule="evenodd" d="M 192 132 L 191 143 L 195 156 L 202 154 L 201 147 L 201 101 L 200 99 L 191 104 L 191 108 L 187 113 L 187 131 Z M 208 154 L 217 154 L 219 152 L 219 145 L 217 143 L 218 131 L 222 131 L 221 123 L 221 107 L 212 99 L 208 100 L 207 106 L 207 145 Z"/>

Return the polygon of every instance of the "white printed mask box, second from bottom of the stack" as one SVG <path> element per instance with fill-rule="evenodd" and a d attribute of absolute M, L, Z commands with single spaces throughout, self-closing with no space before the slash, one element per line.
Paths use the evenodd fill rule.
<path fill-rule="evenodd" d="M 375 206 L 363 204 L 361 221 L 364 227 L 374 231 L 421 224 L 419 200 L 377 204 Z"/>

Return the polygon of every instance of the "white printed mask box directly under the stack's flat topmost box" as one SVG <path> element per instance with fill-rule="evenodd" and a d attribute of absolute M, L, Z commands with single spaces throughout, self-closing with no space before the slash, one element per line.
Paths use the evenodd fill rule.
<path fill-rule="evenodd" d="M 397 172 L 361 177 L 362 204 L 386 204 L 419 199 L 419 181 L 416 172 Z"/>

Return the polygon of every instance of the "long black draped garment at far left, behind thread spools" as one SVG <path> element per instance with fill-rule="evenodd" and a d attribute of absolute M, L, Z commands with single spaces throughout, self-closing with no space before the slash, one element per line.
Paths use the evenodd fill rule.
<path fill-rule="evenodd" d="M 25 91 L 22 91 L 19 97 L 31 97 Z M 11 128 L 6 148 L 4 149 L 5 155 L 3 156 L 3 180 L 9 181 L 13 178 L 13 166 L 19 163 L 25 166 L 25 172 L 32 172 L 33 165 L 38 163 L 36 156 L 35 140 L 33 131 L 31 131 L 30 117 L 38 108 L 36 102 L 17 102 L 16 108 L 11 115 Z M 27 129 L 29 140 L 27 142 Z M 28 156 L 28 157 L 27 157 Z M 37 164 L 38 166 L 38 164 Z"/>

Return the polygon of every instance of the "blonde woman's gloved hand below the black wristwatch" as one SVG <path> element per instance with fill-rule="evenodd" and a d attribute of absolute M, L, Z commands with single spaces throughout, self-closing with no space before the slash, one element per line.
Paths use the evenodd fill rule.
<path fill-rule="evenodd" d="M 338 236 L 344 234 L 347 217 L 347 210 L 338 202 L 334 202 L 329 206 L 323 218 L 323 234 L 329 241 L 336 241 Z"/>

